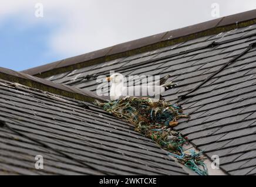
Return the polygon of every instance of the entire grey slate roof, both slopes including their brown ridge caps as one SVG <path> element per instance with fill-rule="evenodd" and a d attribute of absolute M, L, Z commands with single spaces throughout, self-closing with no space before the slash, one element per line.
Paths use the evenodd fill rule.
<path fill-rule="evenodd" d="M 178 86 L 163 96 L 190 113 L 176 130 L 209 158 L 220 156 L 227 174 L 255 175 L 255 15 L 256 10 L 211 20 L 25 74 L 3 70 L 2 174 L 186 174 L 130 124 L 89 103 L 96 96 L 96 77 L 114 70 L 124 75 L 171 74 Z M 90 99 L 83 101 L 86 98 Z M 48 169 L 38 171 L 30 161 L 41 153 L 49 158 Z"/>

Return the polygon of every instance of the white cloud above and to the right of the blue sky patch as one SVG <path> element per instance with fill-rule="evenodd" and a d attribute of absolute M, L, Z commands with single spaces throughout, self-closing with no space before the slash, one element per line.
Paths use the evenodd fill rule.
<path fill-rule="evenodd" d="M 0 24 L 10 16 L 25 26 L 53 26 L 50 52 L 75 56 L 177 29 L 211 18 L 211 4 L 220 4 L 221 16 L 256 8 L 255 0 L 0 0 Z M 44 18 L 35 18 L 35 4 L 44 5 Z M 58 27 L 57 27 L 58 26 Z M 57 27 L 57 28 L 56 28 Z"/>

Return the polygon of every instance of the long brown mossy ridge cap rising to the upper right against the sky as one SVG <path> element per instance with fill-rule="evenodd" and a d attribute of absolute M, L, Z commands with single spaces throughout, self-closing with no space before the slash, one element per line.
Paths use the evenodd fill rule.
<path fill-rule="evenodd" d="M 66 58 L 65 60 L 31 68 L 22 72 L 36 77 L 50 77 L 52 75 L 83 68 L 88 65 L 102 63 L 121 57 L 133 56 L 134 54 L 156 50 L 161 47 L 167 47 L 176 43 L 197 39 L 198 37 L 227 32 L 229 30 L 249 26 L 254 23 L 256 23 L 256 9 L 144 37 L 142 39 L 117 44 L 116 46 L 82 54 L 76 57 Z"/>

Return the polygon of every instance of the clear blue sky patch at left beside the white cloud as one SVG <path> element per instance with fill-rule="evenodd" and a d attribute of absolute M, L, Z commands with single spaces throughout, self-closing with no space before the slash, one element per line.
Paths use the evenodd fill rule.
<path fill-rule="evenodd" d="M 15 19 L 6 19 L 1 23 L 1 67 L 21 71 L 62 58 L 51 52 L 48 46 L 48 37 L 54 28 L 28 24 Z"/>

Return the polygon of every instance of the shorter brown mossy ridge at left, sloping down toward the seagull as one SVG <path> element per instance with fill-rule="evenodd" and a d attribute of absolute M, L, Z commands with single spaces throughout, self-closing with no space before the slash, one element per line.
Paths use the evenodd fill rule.
<path fill-rule="evenodd" d="M 100 98 L 95 93 L 90 91 L 82 91 L 71 86 L 56 84 L 42 78 L 33 77 L 32 75 L 16 72 L 2 67 L 0 67 L 0 79 L 22 84 L 30 88 L 40 89 L 41 91 L 54 93 L 56 95 L 77 99 L 79 101 L 94 102 L 95 99 L 99 101 L 107 101 L 106 98 Z"/>

